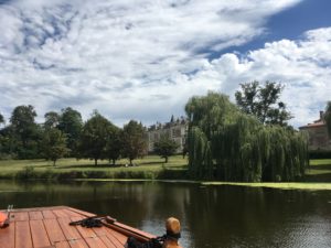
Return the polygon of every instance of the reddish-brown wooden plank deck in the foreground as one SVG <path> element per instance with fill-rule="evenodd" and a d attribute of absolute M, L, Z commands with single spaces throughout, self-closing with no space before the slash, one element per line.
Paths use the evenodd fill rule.
<path fill-rule="evenodd" d="M 15 209 L 10 226 L 0 229 L 1 248 L 122 248 L 128 236 L 148 240 L 154 236 L 121 223 L 103 227 L 70 226 L 95 214 L 66 206 Z"/>

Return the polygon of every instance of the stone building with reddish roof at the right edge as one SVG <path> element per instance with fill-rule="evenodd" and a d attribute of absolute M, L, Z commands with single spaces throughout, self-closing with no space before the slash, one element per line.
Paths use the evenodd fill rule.
<path fill-rule="evenodd" d="M 309 136 L 309 150 L 331 150 L 331 140 L 323 115 L 324 112 L 320 111 L 318 120 L 299 128 L 300 131 L 306 131 Z"/>

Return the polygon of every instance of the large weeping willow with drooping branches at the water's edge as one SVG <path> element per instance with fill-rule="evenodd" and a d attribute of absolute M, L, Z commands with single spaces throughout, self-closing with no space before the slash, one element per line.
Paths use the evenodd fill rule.
<path fill-rule="evenodd" d="M 293 181 L 308 166 L 305 134 L 264 126 L 224 95 L 193 97 L 186 112 L 191 120 L 189 171 L 196 179 Z"/>

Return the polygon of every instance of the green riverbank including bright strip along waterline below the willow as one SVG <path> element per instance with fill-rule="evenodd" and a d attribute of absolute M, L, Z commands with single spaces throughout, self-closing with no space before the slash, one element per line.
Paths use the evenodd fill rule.
<path fill-rule="evenodd" d="M 99 161 L 94 165 L 90 160 L 62 159 L 56 166 L 45 160 L 9 160 L 0 161 L 0 179 L 18 180 L 190 180 L 188 176 L 188 160 L 181 155 L 163 159 L 148 155 L 134 161 L 135 166 L 128 166 L 127 160 L 119 160 L 116 165 L 108 161 Z M 313 186 L 313 183 L 317 183 Z M 281 188 L 329 188 L 322 184 L 331 183 L 331 160 L 311 160 L 302 182 L 298 183 L 227 183 L 207 182 L 204 185 L 244 185 Z"/>

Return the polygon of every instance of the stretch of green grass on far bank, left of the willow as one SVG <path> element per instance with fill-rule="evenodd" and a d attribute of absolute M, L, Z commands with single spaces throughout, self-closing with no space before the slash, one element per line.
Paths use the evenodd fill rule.
<path fill-rule="evenodd" d="M 157 155 L 148 155 L 143 159 L 134 160 L 135 166 L 128 160 L 117 161 L 115 166 L 108 161 L 98 161 L 94 165 L 92 160 L 61 159 L 53 166 L 51 161 L 45 160 L 8 160 L 0 161 L 0 177 L 33 177 L 33 179 L 74 179 L 74 177 L 119 177 L 119 179 L 156 179 L 161 173 L 181 173 L 185 171 L 186 159 L 181 155 L 169 158 L 166 164 L 163 159 Z"/>

